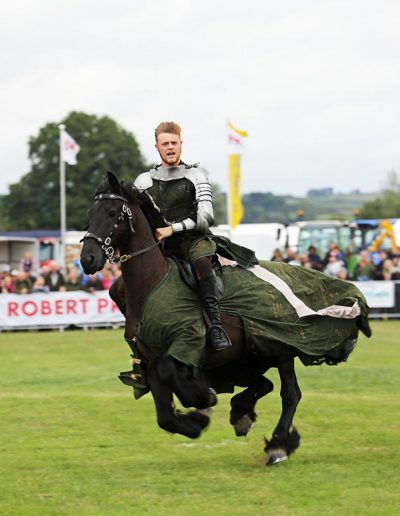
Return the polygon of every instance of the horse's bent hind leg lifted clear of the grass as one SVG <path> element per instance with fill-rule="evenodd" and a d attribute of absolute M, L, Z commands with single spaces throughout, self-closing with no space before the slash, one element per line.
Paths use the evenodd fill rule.
<path fill-rule="evenodd" d="M 233 396 L 229 422 L 237 436 L 249 433 L 257 418 L 254 411 L 257 401 L 271 392 L 273 388 L 274 385 L 268 378 L 259 375 L 247 389 Z"/>

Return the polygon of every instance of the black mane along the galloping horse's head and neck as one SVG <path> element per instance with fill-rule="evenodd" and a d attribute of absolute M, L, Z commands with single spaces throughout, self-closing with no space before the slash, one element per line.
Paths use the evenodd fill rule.
<path fill-rule="evenodd" d="M 140 206 L 152 229 L 165 226 L 163 217 L 147 194 L 140 192 L 132 183 L 125 181 L 119 182 L 114 174 L 113 176 L 115 180 L 111 177 L 110 173 L 104 176 L 102 182 L 96 189 L 95 196 L 114 193 L 125 197 L 128 201 Z"/>

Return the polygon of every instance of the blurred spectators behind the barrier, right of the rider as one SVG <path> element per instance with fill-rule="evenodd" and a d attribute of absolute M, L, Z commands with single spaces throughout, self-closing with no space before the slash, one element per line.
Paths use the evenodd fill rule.
<path fill-rule="evenodd" d="M 308 252 L 303 254 L 296 254 L 290 248 L 285 252 L 275 249 L 271 260 L 316 269 L 342 280 L 400 280 L 400 248 L 397 249 L 397 253 L 370 253 L 366 249 L 354 253 L 344 252 L 332 242 L 324 256 L 318 254 L 317 249 L 310 245 Z"/>

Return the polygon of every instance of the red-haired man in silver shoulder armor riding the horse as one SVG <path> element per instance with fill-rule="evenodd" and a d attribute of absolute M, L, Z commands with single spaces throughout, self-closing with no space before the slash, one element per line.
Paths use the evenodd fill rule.
<path fill-rule="evenodd" d="M 167 254 L 191 263 L 198 279 L 200 299 L 209 319 L 209 340 L 217 351 L 231 346 L 219 312 L 220 289 L 212 268 L 216 244 L 209 237 L 214 223 L 212 189 L 204 169 L 181 161 L 181 128 L 162 122 L 155 130 L 161 164 L 140 174 L 134 185 L 148 195 L 165 222 L 157 228 Z"/>

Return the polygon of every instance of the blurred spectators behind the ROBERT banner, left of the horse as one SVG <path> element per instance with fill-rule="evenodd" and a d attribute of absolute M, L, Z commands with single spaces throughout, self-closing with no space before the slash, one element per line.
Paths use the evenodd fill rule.
<path fill-rule="evenodd" d="M 30 294 L 35 292 L 60 292 L 84 290 L 108 290 L 120 276 L 119 264 L 107 263 L 101 272 L 84 274 L 79 260 L 66 268 L 65 272 L 54 260 L 35 271 L 32 255 L 26 253 L 20 267 L 0 273 L 1 294 Z"/>

